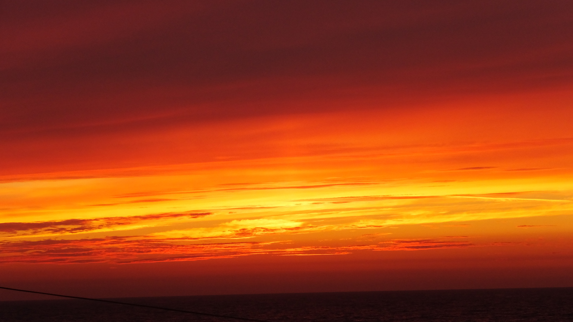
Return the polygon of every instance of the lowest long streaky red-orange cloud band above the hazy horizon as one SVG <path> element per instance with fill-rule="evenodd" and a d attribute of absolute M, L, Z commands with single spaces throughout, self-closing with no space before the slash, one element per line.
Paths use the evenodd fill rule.
<path fill-rule="evenodd" d="M 197 261 L 253 254 L 312 256 L 350 254 L 353 251 L 368 250 L 427 250 L 476 246 L 469 242 L 437 239 L 391 239 L 380 242 L 379 245 L 300 246 L 295 248 L 288 248 L 291 242 L 285 241 L 188 244 L 192 240 L 192 238 L 148 239 L 145 236 L 113 236 L 90 239 L 0 241 L 0 254 L 2 254 L 0 262 L 56 264 L 112 262 L 127 264 L 134 262 Z"/>

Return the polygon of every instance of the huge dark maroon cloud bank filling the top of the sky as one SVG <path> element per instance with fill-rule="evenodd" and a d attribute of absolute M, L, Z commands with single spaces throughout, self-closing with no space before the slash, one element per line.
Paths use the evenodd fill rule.
<path fill-rule="evenodd" d="M 0 149 L 18 160 L 3 169 L 95 167 L 93 151 L 125 133 L 566 88 L 573 76 L 566 0 L 1 6 Z"/>

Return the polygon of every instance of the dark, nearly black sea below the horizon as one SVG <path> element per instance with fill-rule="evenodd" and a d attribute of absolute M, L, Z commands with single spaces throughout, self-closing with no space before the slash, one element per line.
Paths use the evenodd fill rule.
<path fill-rule="evenodd" d="M 409 290 L 112 299 L 266 321 L 573 321 L 573 288 Z M 239 321 L 85 300 L 0 302 L 0 321 Z"/>

